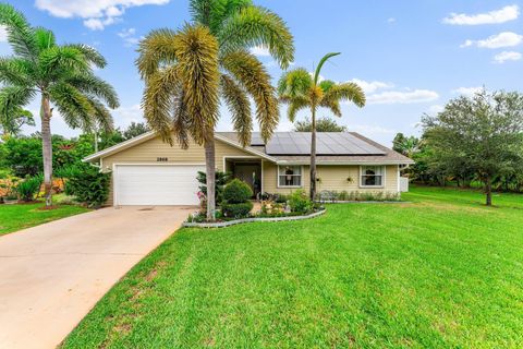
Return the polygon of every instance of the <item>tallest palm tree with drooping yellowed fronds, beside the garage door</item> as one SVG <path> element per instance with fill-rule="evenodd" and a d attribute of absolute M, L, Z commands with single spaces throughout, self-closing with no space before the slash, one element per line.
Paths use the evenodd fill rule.
<path fill-rule="evenodd" d="M 208 41 L 203 39 L 207 36 L 203 34 L 205 27 L 218 45 L 216 63 L 219 84 L 216 93 L 218 99 L 222 98 L 231 112 L 233 128 L 239 133 L 241 144 L 246 146 L 251 142 L 253 116 L 250 97 L 254 100 L 262 135 L 265 140 L 270 139 L 279 121 L 277 93 L 267 70 L 248 49 L 255 46 L 267 48 L 281 68 L 289 67 L 294 57 L 294 46 L 287 25 L 277 14 L 254 5 L 251 0 L 192 0 L 190 7 L 194 23 L 192 28 L 200 32 L 202 43 Z M 182 32 L 188 34 L 191 32 L 188 28 L 185 27 Z M 204 145 L 208 191 L 207 218 L 214 219 L 216 194 L 214 131 L 219 115 L 205 119 L 209 122 L 205 128 L 194 130 L 195 122 L 200 124 L 203 120 L 195 119 L 202 116 L 188 112 L 186 95 L 190 93 L 187 91 L 190 86 L 183 82 L 180 74 L 172 73 L 174 67 L 196 65 L 179 57 L 185 51 L 180 51 L 177 47 L 186 44 L 179 34 L 170 29 L 153 31 L 139 45 L 139 58 L 136 63 L 146 82 L 144 112 L 150 128 L 157 131 L 163 141 L 172 144 L 174 134 L 182 148 L 188 146 L 190 136 Z M 210 59 L 207 50 L 202 48 L 202 51 L 205 51 L 206 59 Z M 191 59 L 196 59 L 196 55 L 191 56 Z M 196 83 L 191 84 L 191 87 L 203 88 Z M 206 87 L 211 86 L 209 84 Z M 159 98 L 159 95 L 165 99 Z M 203 95 L 202 99 L 193 101 L 208 104 L 208 98 Z"/>

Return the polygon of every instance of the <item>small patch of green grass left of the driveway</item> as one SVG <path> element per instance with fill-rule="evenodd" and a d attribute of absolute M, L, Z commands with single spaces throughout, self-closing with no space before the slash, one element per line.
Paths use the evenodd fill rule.
<path fill-rule="evenodd" d="M 44 203 L 0 205 L 0 236 L 88 210 L 75 205 L 58 205 L 49 210 L 41 207 Z"/>

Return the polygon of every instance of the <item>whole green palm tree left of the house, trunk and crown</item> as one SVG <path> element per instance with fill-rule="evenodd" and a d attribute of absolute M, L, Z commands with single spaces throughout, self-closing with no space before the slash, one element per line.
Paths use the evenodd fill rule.
<path fill-rule="evenodd" d="M 119 106 L 114 89 L 95 76 L 93 65 L 106 60 L 85 45 L 57 45 L 54 34 L 32 27 L 22 13 L 0 3 L 0 24 L 4 25 L 13 55 L 0 58 L 0 113 L 8 116 L 40 96 L 41 144 L 46 206 L 51 206 L 52 146 L 50 121 L 57 108 L 65 123 L 90 131 L 95 124 L 112 129 L 106 108 Z"/>

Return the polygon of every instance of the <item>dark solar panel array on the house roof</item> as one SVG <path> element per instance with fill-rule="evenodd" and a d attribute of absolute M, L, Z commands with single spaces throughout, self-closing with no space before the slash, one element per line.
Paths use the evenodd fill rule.
<path fill-rule="evenodd" d="M 252 145 L 263 145 L 259 133 L 253 133 Z M 276 132 L 267 143 L 269 155 L 309 155 L 309 132 Z M 385 155 L 374 145 L 346 132 L 323 132 L 316 137 L 317 155 Z"/>

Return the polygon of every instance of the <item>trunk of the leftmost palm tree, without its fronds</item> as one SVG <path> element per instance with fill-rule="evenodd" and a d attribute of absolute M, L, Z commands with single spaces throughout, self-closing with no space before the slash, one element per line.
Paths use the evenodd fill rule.
<path fill-rule="evenodd" d="M 46 192 L 46 207 L 52 205 L 52 143 L 51 143 L 51 107 L 49 96 L 41 95 L 41 153 L 44 155 L 44 188 Z"/>

